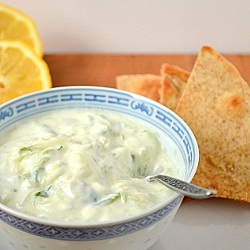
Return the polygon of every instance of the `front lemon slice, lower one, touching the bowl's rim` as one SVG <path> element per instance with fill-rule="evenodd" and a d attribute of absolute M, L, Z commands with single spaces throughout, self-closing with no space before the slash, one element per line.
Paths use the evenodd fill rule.
<path fill-rule="evenodd" d="M 51 86 L 48 65 L 25 43 L 0 41 L 0 104 Z"/>

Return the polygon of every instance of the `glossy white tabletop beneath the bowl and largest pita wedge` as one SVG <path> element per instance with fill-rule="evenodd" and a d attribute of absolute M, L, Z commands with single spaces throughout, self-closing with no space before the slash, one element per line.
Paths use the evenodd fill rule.
<path fill-rule="evenodd" d="M 1 238 L 0 249 L 13 250 Z M 210 199 L 184 202 L 167 231 L 149 250 L 249 249 L 250 204 Z"/>

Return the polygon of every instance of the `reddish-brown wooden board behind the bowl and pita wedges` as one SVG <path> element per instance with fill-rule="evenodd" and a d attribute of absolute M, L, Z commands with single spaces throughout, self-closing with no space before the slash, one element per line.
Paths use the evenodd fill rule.
<path fill-rule="evenodd" d="M 250 54 L 224 55 L 250 83 Z M 122 74 L 160 74 L 163 63 L 191 71 L 196 55 L 45 55 L 53 86 L 90 85 L 115 87 Z"/>

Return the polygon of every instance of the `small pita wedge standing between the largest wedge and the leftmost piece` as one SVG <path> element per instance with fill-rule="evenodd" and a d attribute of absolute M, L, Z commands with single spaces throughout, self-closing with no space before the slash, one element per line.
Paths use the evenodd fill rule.
<path fill-rule="evenodd" d="M 190 73 L 178 66 L 164 63 L 161 66 L 160 103 L 175 110 Z"/>

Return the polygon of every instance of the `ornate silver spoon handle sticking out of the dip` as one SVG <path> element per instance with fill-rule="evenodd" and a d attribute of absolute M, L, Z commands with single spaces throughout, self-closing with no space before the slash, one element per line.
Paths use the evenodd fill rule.
<path fill-rule="evenodd" d="M 202 188 L 167 175 L 149 176 L 148 181 L 159 181 L 168 188 L 194 199 L 210 198 L 217 193 L 216 190 Z"/>

